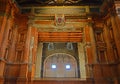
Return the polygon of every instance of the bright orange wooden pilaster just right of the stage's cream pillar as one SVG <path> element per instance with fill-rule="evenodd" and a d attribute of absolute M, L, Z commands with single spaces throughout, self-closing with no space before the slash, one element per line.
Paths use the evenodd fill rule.
<path fill-rule="evenodd" d="M 86 55 L 87 55 L 87 63 L 93 64 L 96 62 L 96 44 L 95 44 L 95 38 L 94 38 L 94 32 L 91 24 L 88 24 L 85 27 L 85 49 L 86 49 Z"/>

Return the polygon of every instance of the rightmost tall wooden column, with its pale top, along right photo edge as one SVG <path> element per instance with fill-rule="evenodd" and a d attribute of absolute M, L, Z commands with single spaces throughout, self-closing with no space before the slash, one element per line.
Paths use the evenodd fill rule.
<path fill-rule="evenodd" d="M 112 28 L 113 28 L 113 34 L 114 34 L 114 40 L 115 40 L 115 47 L 118 51 L 118 61 L 117 69 L 118 69 L 118 79 L 115 79 L 115 83 L 120 83 L 120 1 L 114 0 L 115 8 L 111 11 L 111 22 L 112 22 Z"/>

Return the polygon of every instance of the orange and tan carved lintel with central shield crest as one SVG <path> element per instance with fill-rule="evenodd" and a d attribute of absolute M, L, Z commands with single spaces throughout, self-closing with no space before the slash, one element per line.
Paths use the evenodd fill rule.
<path fill-rule="evenodd" d="M 37 17 L 34 18 L 34 20 L 30 20 L 32 22 L 32 26 L 38 29 L 39 32 L 78 32 L 82 31 L 83 27 L 86 25 L 84 21 L 78 21 L 73 22 L 72 20 L 65 21 L 64 18 L 54 18 L 55 20 L 36 20 Z M 87 20 L 85 19 L 87 22 Z"/>

